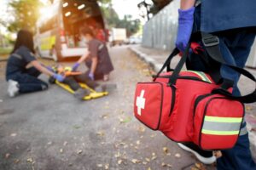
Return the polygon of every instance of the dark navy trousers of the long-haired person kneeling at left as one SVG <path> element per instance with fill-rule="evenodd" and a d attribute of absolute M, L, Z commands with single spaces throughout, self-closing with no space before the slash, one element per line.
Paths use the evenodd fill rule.
<path fill-rule="evenodd" d="M 12 79 L 19 82 L 20 94 L 37 92 L 43 90 L 44 88 L 48 88 L 48 84 L 46 82 L 43 82 L 37 78 L 40 74 L 40 71 L 32 67 L 26 70 L 26 72 L 16 72 L 9 75 L 7 80 Z"/>

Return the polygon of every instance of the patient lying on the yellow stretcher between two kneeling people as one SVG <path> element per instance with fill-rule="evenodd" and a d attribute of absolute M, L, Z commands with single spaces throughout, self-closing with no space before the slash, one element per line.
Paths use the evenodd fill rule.
<path fill-rule="evenodd" d="M 79 71 L 72 71 L 69 67 L 64 67 L 63 65 L 56 65 L 54 67 L 48 67 L 52 71 L 65 77 L 62 83 L 67 84 L 74 91 L 74 97 L 77 99 L 84 99 L 84 96 L 90 94 L 90 90 L 82 88 L 79 82 L 85 83 L 89 88 L 94 89 L 96 92 L 106 92 L 112 88 L 116 88 L 114 84 L 98 84 L 95 81 L 92 81 L 90 77 L 86 76 Z M 54 83 L 55 79 L 51 77 L 49 82 Z"/>

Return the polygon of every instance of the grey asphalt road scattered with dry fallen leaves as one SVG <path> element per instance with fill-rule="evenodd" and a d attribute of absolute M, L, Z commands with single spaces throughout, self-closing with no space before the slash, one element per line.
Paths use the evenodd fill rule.
<path fill-rule="evenodd" d="M 79 101 L 56 85 L 10 99 L 0 77 L 1 170 L 204 169 L 133 117 L 136 83 L 150 80 L 148 65 L 127 47 L 110 53 L 118 88 L 102 99 Z"/>

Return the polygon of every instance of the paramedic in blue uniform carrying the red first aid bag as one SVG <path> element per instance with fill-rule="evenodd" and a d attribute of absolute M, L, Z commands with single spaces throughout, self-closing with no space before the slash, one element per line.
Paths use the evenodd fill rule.
<path fill-rule="evenodd" d="M 219 46 L 224 60 L 232 65 L 244 67 L 250 53 L 256 32 L 255 0 L 181 0 L 178 9 L 178 30 L 176 46 L 181 51 L 189 42 L 192 31 L 212 33 L 219 38 Z M 194 26 L 193 26 L 194 24 Z M 193 56 L 190 56 L 192 59 Z M 196 65 L 195 67 L 200 67 Z M 235 82 L 234 95 L 240 95 L 237 88 L 239 75 L 224 65 L 221 76 Z M 211 151 L 200 150 L 195 144 L 179 144 L 202 162 L 212 163 L 215 157 Z M 217 159 L 218 169 L 253 170 L 256 164 L 252 159 L 246 122 L 241 126 L 241 133 L 234 148 L 221 150 Z"/>

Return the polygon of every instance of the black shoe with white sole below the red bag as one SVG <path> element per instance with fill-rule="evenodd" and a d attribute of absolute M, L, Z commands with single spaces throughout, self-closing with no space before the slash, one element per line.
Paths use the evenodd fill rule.
<path fill-rule="evenodd" d="M 212 164 L 216 161 L 216 157 L 213 156 L 212 151 L 201 150 L 199 146 L 193 143 L 181 144 L 177 143 L 183 150 L 187 150 L 195 155 L 195 157 L 204 164 Z"/>

